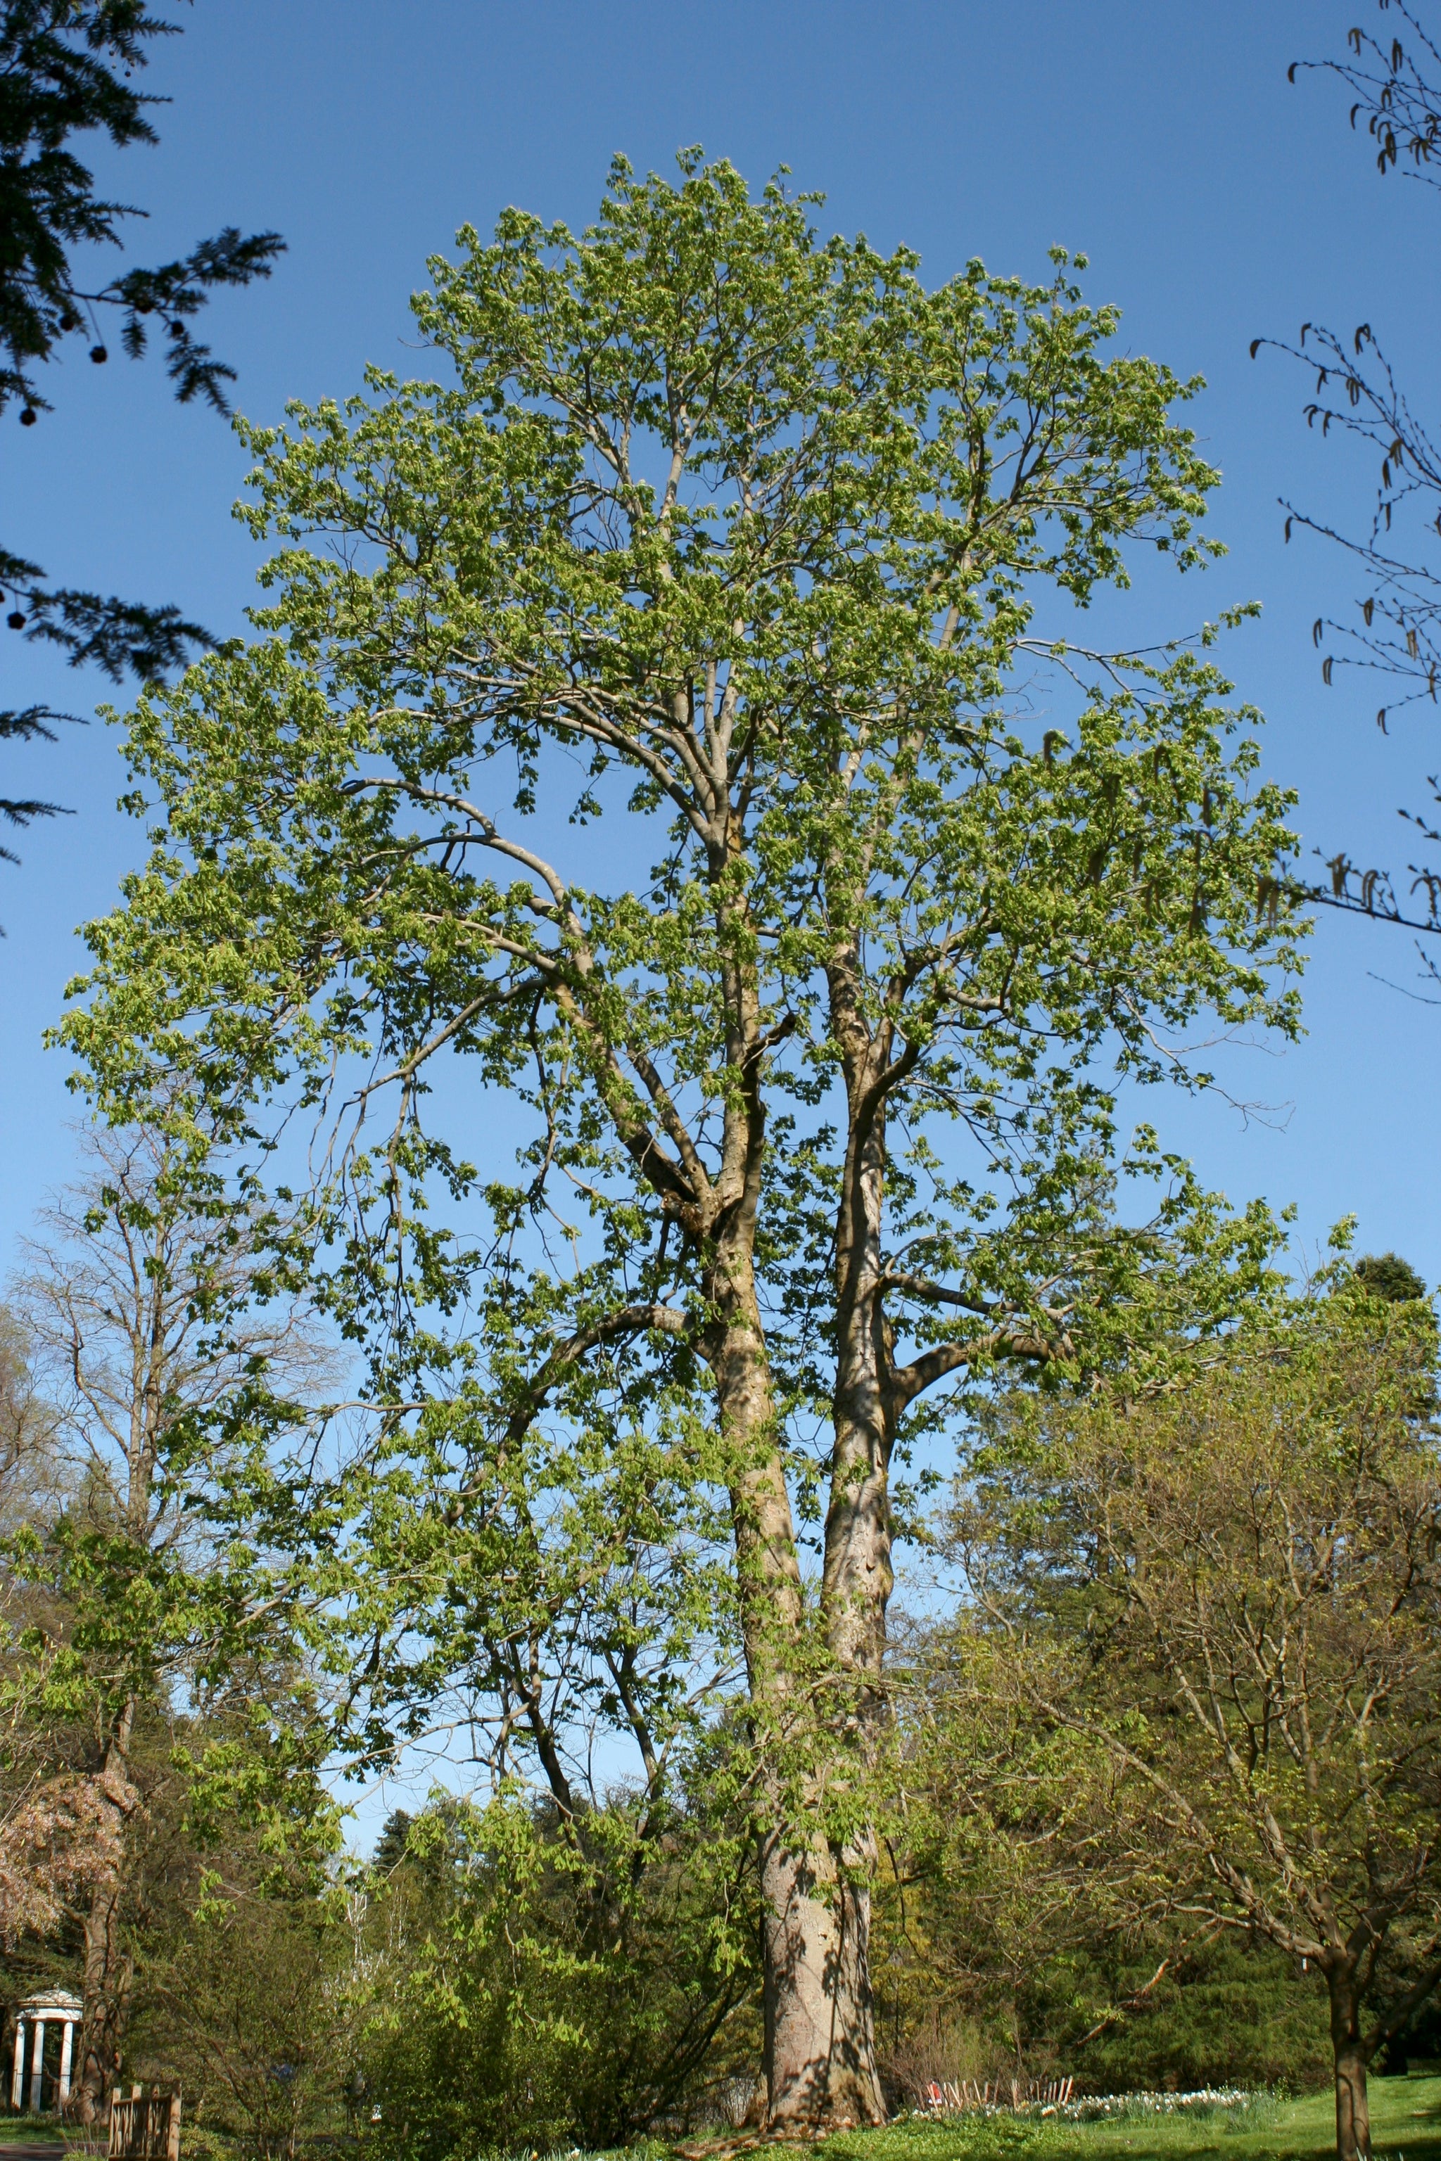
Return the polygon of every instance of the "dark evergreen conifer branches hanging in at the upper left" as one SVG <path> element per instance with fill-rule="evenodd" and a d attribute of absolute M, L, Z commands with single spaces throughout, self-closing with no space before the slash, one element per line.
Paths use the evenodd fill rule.
<path fill-rule="evenodd" d="M 39 370 L 63 346 L 86 341 L 91 361 L 108 359 L 106 318 L 117 318 L 121 348 L 132 359 L 145 352 L 153 324 L 162 324 L 175 395 L 181 404 L 203 398 L 227 411 L 225 382 L 233 370 L 197 344 L 192 322 L 216 287 L 270 277 L 283 249 L 279 233 L 242 236 L 227 227 L 184 259 L 108 281 L 93 281 L 73 264 L 76 249 L 121 246 L 121 220 L 143 212 L 95 192 L 71 138 L 99 130 L 117 149 L 156 140 L 149 110 L 160 99 L 140 93 L 132 76 L 147 65 L 153 39 L 177 30 L 143 0 L 0 6 L 0 415 L 17 404 L 26 428 L 52 411 Z M 93 661 L 117 683 L 125 672 L 140 681 L 164 674 L 194 644 L 207 644 L 205 631 L 181 620 L 177 607 L 52 586 L 11 549 L 0 549 L 0 583 L 11 588 L 11 629 L 60 646 L 76 668 Z M 35 704 L 0 713 L 0 739 L 50 737 L 50 724 L 63 717 Z M 50 810 L 54 804 L 0 800 L 0 817 L 11 826 Z"/>

